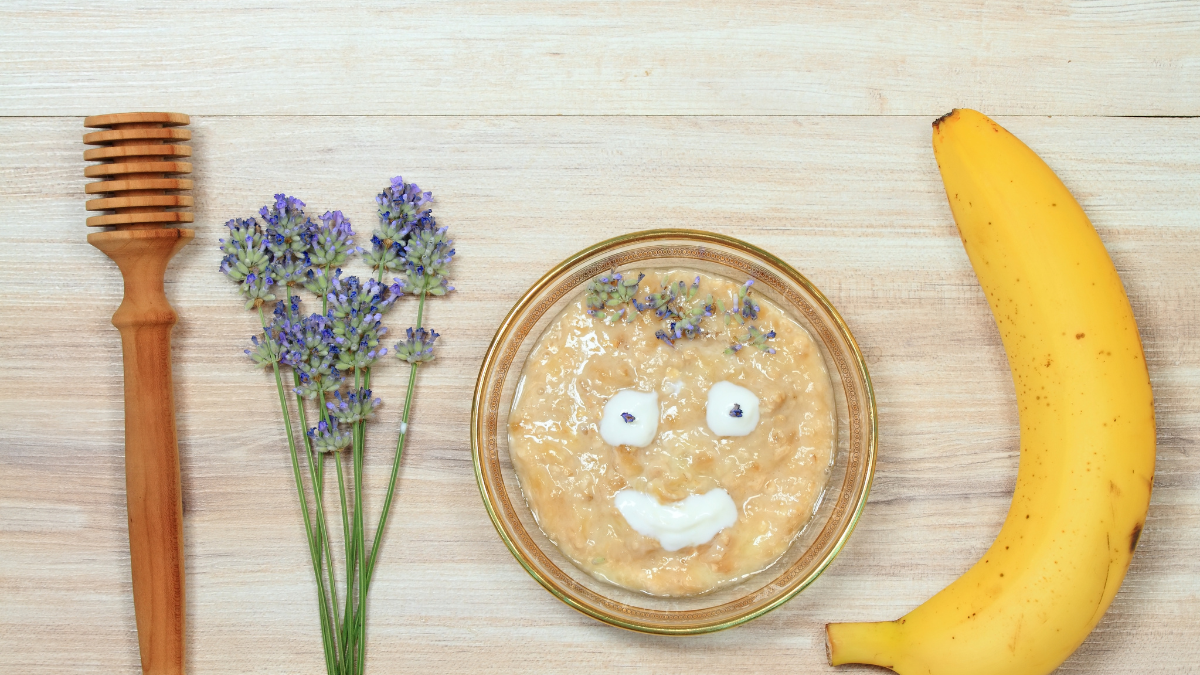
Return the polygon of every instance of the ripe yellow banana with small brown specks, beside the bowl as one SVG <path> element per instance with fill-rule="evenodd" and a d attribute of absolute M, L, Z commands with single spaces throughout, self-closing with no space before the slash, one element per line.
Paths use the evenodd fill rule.
<path fill-rule="evenodd" d="M 1146 519 L 1146 359 L 1104 244 L 1040 157 L 966 109 L 934 123 L 934 155 L 1016 387 L 1016 491 L 983 558 L 925 604 L 896 621 L 828 625 L 829 662 L 1045 674 L 1108 609 Z"/>

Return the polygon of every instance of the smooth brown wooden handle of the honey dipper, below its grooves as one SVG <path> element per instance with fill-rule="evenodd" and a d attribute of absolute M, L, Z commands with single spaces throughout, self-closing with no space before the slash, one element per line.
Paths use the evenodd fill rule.
<path fill-rule="evenodd" d="M 88 241 L 116 262 L 125 300 L 113 315 L 125 354 L 125 490 L 142 671 L 184 673 L 184 504 L 170 378 L 175 311 L 167 263 L 191 229 L 96 232 Z"/>

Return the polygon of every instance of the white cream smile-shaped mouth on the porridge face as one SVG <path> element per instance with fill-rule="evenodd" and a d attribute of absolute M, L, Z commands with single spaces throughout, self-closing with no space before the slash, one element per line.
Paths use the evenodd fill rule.
<path fill-rule="evenodd" d="M 721 488 L 671 504 L 660 504 L 653 495 L 626 488 L 617 492 L 613 502 L 630 527 L 658 539 L 666 551 L 708 543 L 738 521 L 738 507 Z"/>

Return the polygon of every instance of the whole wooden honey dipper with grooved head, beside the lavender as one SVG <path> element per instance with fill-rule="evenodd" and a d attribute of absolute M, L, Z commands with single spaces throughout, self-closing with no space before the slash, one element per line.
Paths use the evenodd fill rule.
<path fill-rule="evenodd" d="M 192 181 L 192 135 L 179 113 L 121 113 L 84 120 L 83 142 L 100 145 L 83 154 L 100 160 L 84 175 L 103 178 L 86 186 L 88 241 L 116 263 L 125 277 L 125 299 L 113 325 L 121 331 L 125 360 L 125 491 L 130 519 L 133 611 L 148 675 L 184 673 L 184 504 L 179 486 L 175 400 L 170 382 L 170 329 L 176 315 L 163 293 L 163 274 L 194 232 L 173 223 L 192 222 L 192 198 L 176 195 Z"/>

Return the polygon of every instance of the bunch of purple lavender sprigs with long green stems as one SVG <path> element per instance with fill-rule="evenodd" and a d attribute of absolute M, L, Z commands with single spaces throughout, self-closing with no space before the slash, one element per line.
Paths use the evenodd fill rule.
<path fill-rule="evenodd" d="M 446 280 L 454 241 L 427 208 L 431 199 L 416 185 L 391 179 L 376 197 L 379 226 L 366 252 L 354 244 L 350 221 L 341 211 L 313 221 L 304 202 L 284 195 L 276 195 L 274 204 L 259 210 L 262 220 L 230 220 L 226 223 L 229 237 L 221 240 L 221 271 L 238 283 L 246 309 L 258 313 L 263 329 L 251 338 L 246 354 L 275 376 L 330 675 L 364 673 L 367 591 L 396 492 L 416 371 L 433 359 L 438 338 L 421 324 L 425 301 L 454 291 Z M 342 264 L 359 253 L 372 269 L 371 276 L 343 276 Z M 390 285 L 385 276 L 391 277 Z M 301 289 L 320 303 L 319 312 L 301 310 Z M 416 323 L 394 345 L 392 354 L 409 366 L 408 389 L 388 492 L 368 545 L 362 453 L 366 423 L 382 402 L 371 390 L 371 371 L 388 356 L 388 347 L 380 346 L 388 334 L 383 316 L 404 295 L 416 298 Z M 334 507 L 341 514 L 344 549 L 336 557 L 324 500 L 330 464 L 337 477 Z M 344 589 L 341 597 L 338 580 Z"/>

